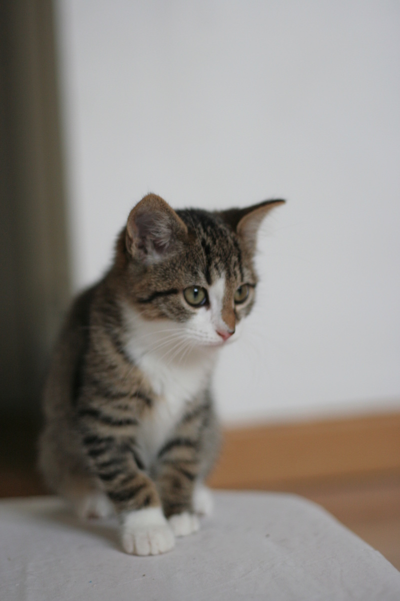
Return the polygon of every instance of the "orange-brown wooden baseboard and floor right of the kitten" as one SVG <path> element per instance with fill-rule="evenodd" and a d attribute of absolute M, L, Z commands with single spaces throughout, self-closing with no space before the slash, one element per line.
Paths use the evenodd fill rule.
<path fill-rule="evenodd" d="M 210 484 L 326 508 L 400 570 L 400 413 L 227 429 Z"/>

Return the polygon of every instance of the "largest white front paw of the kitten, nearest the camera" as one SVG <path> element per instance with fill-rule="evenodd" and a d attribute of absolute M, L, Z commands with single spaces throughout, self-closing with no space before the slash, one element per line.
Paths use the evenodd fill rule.
<path fill-rule="evenodd" d="M 128 513 L 122 524 L 122 546 L 134 555 L 158 555 L 175 546 L 175 537 L 160 507 Z"/>

